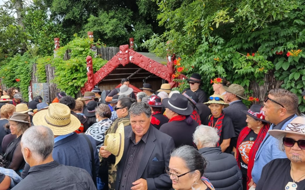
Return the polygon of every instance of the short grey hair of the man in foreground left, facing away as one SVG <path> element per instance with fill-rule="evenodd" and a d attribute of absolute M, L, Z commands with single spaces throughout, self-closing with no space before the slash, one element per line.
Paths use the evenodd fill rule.
<path fill-rule="evenodd" d="M 54 147 L 54 134 L 46 126 L 31 126 L 21 137 L 22 147 L 27 147 L 34 157 L 44 161 L 52 154 Z"/>

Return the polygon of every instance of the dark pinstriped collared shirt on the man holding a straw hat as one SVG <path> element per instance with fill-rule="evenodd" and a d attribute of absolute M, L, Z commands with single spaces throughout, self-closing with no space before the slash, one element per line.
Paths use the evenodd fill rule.
<path fill-rule="evenodd" d="M 133 186 L 132 183 L 136 179 L 138 168 L 140 167 L 141 158 L 144 152 L 145 144 L 147 142 L 148 133 L 145 133 L 141 140 L 135 142 L 135 133 L 131 131 L 127 138 L 130 138 L 131 143 L 127 149 L 127 160 L 124 163 L 124 171 L 120 182 L 120 190 L 129 190 Z"/>

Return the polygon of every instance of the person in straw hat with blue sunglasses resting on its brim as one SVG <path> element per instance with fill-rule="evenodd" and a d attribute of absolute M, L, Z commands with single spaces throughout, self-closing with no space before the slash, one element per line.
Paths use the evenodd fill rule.
<path fill-rule="evenodd" d="M 204 104 L 210 107 L 212 113 L 206 118 L 205 125 L 217 128 L 220 137 L 217 146 L 220 145 L 222 152 L 231 153 L 228 147 L 230 146 L 231 138 L 235 137 L 235 131 L 232 119 L 222 111 L 229 104 L 224 102 L 223 96 L 216 94 L 211 95 L 209 101 Z"/>

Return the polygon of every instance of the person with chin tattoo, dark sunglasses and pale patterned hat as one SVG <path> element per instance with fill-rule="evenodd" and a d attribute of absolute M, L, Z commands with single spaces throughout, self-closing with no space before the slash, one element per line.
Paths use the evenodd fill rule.
<path fill-rule="evenodd" d="M 262 170 L 256 190 L 302 190 L 305 187 L 305 117 L 299 116 L 285 130 L 269 130 L 279 140 L 279 149 L 287 158 L 277 158 Z M 269 137 L 270 138 L 270 137 Z M 270 152 L 272 154 L 272 150 Z"/>

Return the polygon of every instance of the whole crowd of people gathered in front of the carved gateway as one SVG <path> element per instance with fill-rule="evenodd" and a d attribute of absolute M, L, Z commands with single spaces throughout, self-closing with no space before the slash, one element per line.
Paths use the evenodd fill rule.
<path fill-rule="evenodd" d="M 123 78 L 107 95 L 58 92 L 50 104 L 0 89 L 0 190 L 305 187 L 296 94 L 271 89 L 247 108 L 239 84 L 215 78 L 208 96 L 199 74 L 186 80 L 182 93 L 145 83 L 135 94 Z"/>

